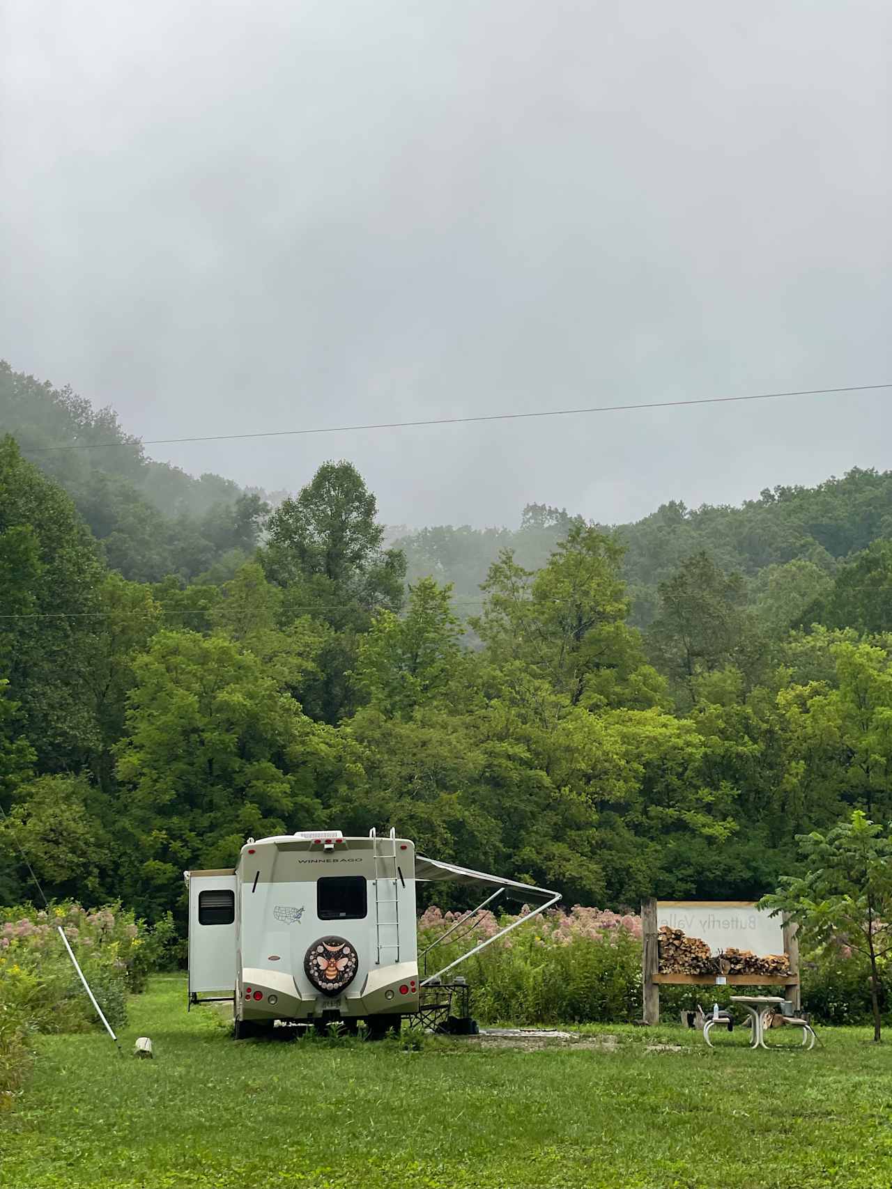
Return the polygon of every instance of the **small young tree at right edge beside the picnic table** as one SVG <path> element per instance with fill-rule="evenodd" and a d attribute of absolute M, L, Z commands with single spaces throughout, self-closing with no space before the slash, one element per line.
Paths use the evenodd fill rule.
<path fill-rule="evenodd" d="M 760 907 L 789 913 L 805 939 L 846 944 L 867 957 L 873 1039 L 879 1043 L 880 968 L 892 952 L 892 837 L 855 810 L 828 833 L 803 835 L 799 842 L 808 870 L 784 877 Z"/>

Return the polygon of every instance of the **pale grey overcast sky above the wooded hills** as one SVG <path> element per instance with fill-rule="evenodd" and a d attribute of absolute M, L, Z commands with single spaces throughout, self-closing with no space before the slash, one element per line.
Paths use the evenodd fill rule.
<path fill-rule="evenodd" d="M 142 436 L 892 380 L 888 0 L 8 0 L 0 357 Z M 153 447 L 390 523 L 892 466 L 892 390 Z"/>

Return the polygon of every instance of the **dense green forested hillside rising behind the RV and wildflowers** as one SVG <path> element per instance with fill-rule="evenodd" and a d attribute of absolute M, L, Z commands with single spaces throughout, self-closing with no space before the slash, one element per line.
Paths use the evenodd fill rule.
<path fill-rule="evenodd" d="M 571 902 L 749 898 L 797 833 L 892 817 L 888 474 L 403 552 L 348 463 L 274 512 L 138 448 L 38 466 L 123 432 L 2 384 L 0 898 L 18 839 L 51 894 L 155 919 L 183 868 L 322 824 Z"/>

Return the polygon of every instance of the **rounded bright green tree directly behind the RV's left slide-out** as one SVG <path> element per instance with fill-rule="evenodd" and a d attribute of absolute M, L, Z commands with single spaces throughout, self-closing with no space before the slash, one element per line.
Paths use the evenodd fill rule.
<path fill-rule="evenodd" d="M 322 819 L 320 791 L 352 776 L 345 743 L 224 635 L 159 631 L 133 663 L 118 744 L 123 887 L 152 918 L 186 867 L 230 866 L 249 835 Z"/>

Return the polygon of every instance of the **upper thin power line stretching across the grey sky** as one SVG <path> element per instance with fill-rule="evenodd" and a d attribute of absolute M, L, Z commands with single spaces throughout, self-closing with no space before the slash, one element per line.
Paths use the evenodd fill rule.
<path fill-rule="evenodd" d="M 733 404 L 740 401 L 773 401 L 784 396 L 821 396 L 835 392 L 869 392 L 892 388 L 885 384 L 850 384 L 847 388 L 809 388 L 790 392 L 755 392 L 749 396 L 706 396 L 692 401 L 653 401 L 645 404 L 598 404 L 584 409 L 542 409 L 536 413 L 488 413 L 476 417 L 432 417 L 425 421 L 378 421 L 365 426 L 325 426 L 315 429 L 266 429 L 245 434 L 206 434 L 194 438 L 150 438 L 133 442 L 74 442 L 65 446 L 26 446 L 30 453 L 46 453 L 61 449 L 109 449 L 124 447 L 142 449 L 143 446 L 177 446 L 186 442 L 237 441 L 247 438 L 301 438 L 310 434 L 346 434 L 369 429 L 410 429 L 419 426 L 460 426 L 478 421 L 524 421 L 532 417 L 572 417 L 588 413 L 624 413 L 634 409 L 679 409 L 692 404 Z"/>

